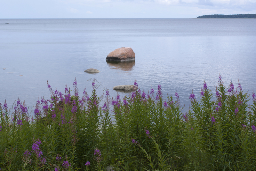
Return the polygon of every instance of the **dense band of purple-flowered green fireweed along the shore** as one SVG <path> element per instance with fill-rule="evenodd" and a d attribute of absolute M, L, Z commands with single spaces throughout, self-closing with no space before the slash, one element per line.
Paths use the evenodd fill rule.
<path fill-rule="evenodd" d="M 163 99 L 160 84 L 124 98 L 97 95 L 95 80 L 90 95 L 73 85 L 60 92 L 47 83 L 51 98 L 38 98 L 32 118 L 20 99 L 0 103 L 1 171 L 256 168 L 256 96 L 249 106 L 239 81 L 225 87 L 219 76 L 215 90 L 204 81 L 186 113 L 178 91 Z"/>

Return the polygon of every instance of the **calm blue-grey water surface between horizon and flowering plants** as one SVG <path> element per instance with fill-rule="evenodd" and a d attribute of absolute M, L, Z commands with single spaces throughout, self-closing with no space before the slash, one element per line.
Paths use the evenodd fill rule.
<path fill-rule="evenodd" d="M 107 63 L 120 47 L 131 47 L 136 62 Z M 64 92 L 76 78 L 82 94 L 95 78 L 116 96 L 112 87 L 137 77 L 147 92 L 160 83 L 164 98 L 177 90 L 188 109 L 191 90 L 199 99 L 204 78 L 215 90 L 219 73 L 251 94 L 255 66 L 256 19 L 0 19 L 0 102 L 8 107 L 18 97 L 30 107 L 49 99 L 47 80 Z"/>

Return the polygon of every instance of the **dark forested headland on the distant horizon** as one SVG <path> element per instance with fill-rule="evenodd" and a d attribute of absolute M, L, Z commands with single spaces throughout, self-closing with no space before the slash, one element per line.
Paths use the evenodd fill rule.
<path fill-rule="evenodd" d="M 212 14 L 212 15 L 202 15 L 196 18 L 197 19 L 256 19 L 256 14 L 233 14 L 233 15 Z"/>

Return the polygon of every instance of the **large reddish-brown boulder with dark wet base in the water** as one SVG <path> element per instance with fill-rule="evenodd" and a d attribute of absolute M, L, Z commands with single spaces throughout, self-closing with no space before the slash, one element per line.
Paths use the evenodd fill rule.
<path fill-rule="evenodd" d="M 135 53 L 132 48 L 117 48 L 110 52 L 106 61 L 134 61 Z"/>

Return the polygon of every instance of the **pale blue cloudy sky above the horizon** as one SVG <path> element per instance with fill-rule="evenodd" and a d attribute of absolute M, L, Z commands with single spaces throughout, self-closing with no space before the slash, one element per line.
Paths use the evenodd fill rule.
<path fill-rule="evenodd" d="M 0 0 L 0 19 L 196 18 L 248 13 L 256 13 L 256 0 Z"/>

